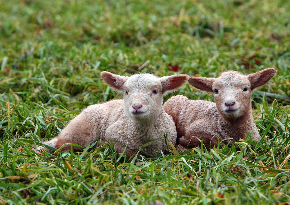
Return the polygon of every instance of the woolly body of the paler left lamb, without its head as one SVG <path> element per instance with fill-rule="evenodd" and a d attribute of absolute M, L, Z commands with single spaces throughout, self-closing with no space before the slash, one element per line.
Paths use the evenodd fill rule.
<path fill-rule="evenodd" d="M 79 126 L 81 124 L 81 126 Z M 86 147 L 100 139 L 114 143 L 117 152 L 122 153 L 127 145 L 125 154 L 133 155 L 144 144 L 167 134 L 167 141 L 176 143 L 176 129 L 172 117 L 162 109 L 157 119 L 142 123 L 134 121 L 124 113 L 124 100 L 113 100 L 103 104 L 88 106 L 75 117 L 59 134 L 56 139 L 45 144 L 59 148 L 65 143 L 79 144 Z M 82 137 L 80 137 L 82 136 Z M 69 150 L 67 145 L 62 150 Z M 75 151 L 81 149 L 74 147 Z M 167 151 L 165 139 L 157 141 L 143 149 L 144 153 L 159 156 L 156 151 Z"/>

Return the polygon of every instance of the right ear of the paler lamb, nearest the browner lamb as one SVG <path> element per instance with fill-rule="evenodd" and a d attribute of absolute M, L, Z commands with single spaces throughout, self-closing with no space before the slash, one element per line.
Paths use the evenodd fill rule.
<path fill-rule="evenodd" d="M 160 82 L 162 85 L 162 93 L 165 94 L 168 91 L 177 90 L 186 83 L 188 77 L 188 75 L 170 75 L 161 77 Z"/>

